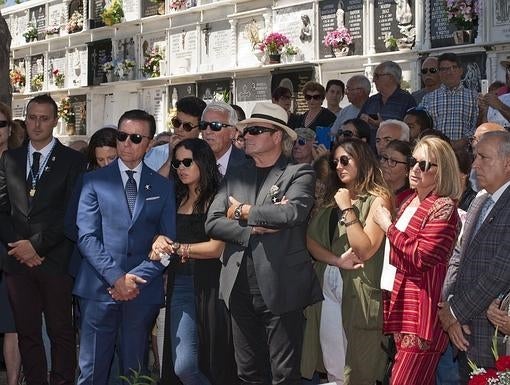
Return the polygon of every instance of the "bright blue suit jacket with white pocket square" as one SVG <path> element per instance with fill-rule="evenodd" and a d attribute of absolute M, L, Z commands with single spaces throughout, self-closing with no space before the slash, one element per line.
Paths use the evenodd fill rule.
<path fill-rule="evenodd" d="M 164 266 L 150 261 L 155 235 L 175 239 L 172 182 L 145 164 L 131 218 L 118 162 L 86 174 L 78 204 L 78 248 L 83 255 L 74 294 L 113 301 L 107 289 L 126 273 L 147 280 L 133 301 L 163 302 Z"/>

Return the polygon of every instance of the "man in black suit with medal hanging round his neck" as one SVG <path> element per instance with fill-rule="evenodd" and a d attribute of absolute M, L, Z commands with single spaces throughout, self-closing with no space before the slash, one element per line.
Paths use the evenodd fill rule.
<path fill-rule="evenodd" d="M 64 214 L 85 159 L 53 137 L 57 120 L 49 95 L 30 100 L 29 141 L 0 161 L 0 241 L 8 248 L 4 272 L 28 385 L 48 383 L 43 313 L 51 341 L 50 383 L 75 379 L 73 282 L 67 274 L 73 244 L 64 236 Z"/>

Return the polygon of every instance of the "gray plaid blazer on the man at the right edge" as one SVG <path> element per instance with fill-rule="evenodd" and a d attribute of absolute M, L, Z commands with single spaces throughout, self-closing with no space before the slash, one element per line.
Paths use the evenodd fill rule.
<path fill-rule="evenodd" d="M 510 290 L 510 188 L 498 199 L 478 232 L 472 236 L 480 210 L 487 199 L 483 194 L 469 207 L 464 235 L 457 254 L 458 267 L 450 266 L 456 277 L 447 291 L 449 303 L 461 324 L 471 328 L 468 357 L 478 366 L 493 367 L 491 352 L 494 327 L 486 316 L 490 303 Z"/>

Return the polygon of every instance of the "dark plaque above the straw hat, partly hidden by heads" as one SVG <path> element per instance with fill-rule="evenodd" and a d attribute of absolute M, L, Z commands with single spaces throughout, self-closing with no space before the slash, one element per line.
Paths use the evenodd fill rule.
<path fill-rule="evenodd" d="M 313 76 L 313 67 L 273 72 L 271 78 L 271 91 L 278 86 L 290 89 L 293 100 L 291 112 L 303 113 L 308 109 L 305 96 L 303 95 L 303 86 L 306 82 L 314 80 Z"/>

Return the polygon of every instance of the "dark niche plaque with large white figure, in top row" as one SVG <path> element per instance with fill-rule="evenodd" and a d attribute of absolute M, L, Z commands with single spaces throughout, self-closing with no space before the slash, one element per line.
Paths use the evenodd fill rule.
<path fill-rule="evenodd" d="M 409 50 L 416 40 L 414 0 L 375 0 L 375 51 Z"/>

